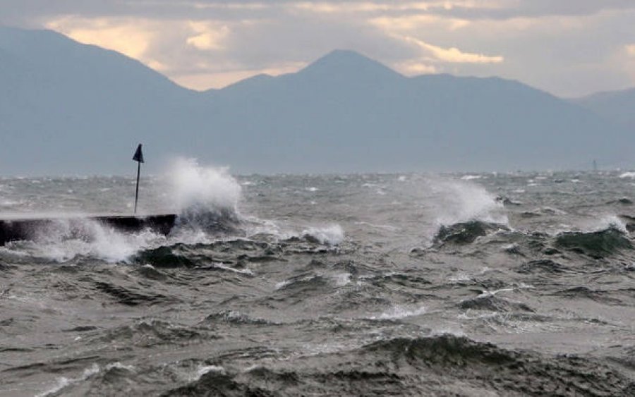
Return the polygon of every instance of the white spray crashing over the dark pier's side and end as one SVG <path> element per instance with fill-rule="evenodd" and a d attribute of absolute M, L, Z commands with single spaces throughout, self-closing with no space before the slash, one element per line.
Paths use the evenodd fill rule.
<path fill-rule="evenodd" d="M 91 256 L 106 262 L 128 262 L 139 250 L 166 243 L 201 243 L 214 233 L 240 232 L 240 185 L 226 169 L 203 168 L 180 159 L 165 175 L 169 205 L 179 212 L 168 239 L 144 229 L 129 233 L 85 216 L 53 219 L 30 241 L 11 244 L 8 253 L 34 255 L 56 262 Z M 168 204 L 168 203 L 167 203 Z"/>

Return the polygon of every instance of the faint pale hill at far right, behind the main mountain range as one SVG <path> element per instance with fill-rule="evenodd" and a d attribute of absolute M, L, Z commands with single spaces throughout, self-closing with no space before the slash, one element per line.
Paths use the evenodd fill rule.
<path fill-rule="evenodd" d="M 631 131 L 631 134 L 635 134 L 635 88 L 599 92 L 574 99 L 573 102 L 594 111 L 607 120 L 622 124 Z"/>

